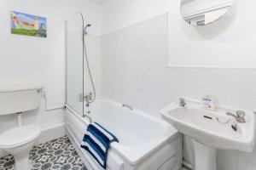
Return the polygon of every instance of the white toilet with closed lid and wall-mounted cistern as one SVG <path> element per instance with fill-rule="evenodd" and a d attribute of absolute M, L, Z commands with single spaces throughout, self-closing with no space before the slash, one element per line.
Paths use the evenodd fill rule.
<path fill-rule="evenodd" d="M 15 157 L 15 170 L 30 170 L 29 152 L 41 131 L 38 126 L 22 126 L 21 114 L 39 107 L 42 86 L 20 85 L 0 88 L 0 116 L 17 114 L 18 126 L 0 134 L 0 148 Z"/>

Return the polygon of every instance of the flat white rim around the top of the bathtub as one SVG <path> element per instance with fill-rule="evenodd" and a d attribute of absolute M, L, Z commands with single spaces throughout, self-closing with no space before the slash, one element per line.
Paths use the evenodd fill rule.
<path fill-rule="evenodd" d="M 122 104 L 115 102 L 112 99 L 106 99 L 101 97 L 101 98 L 97 98 L 96 101 L 107 102 L 110 105 L 116 106 L 125 111 L 127 110 L 127 108 L 121 107 Z M 87 116 L 86 117 L 81 116 L 78 111 L 75 111 L 69 105 L 65 105 L 65 107 L 67 110 L 73 112 L 74 116 L 77 117 L 79 121 L 85 122 L 87 126 L 90 124 L 90 119 Z M 115 151 L 122 159 L 129 162 L 131 165 L 137 165 L 138 162 L 143 161 L 145 158 L 150 156 L 155 150 L 160 149 L 163 145 L 165 145 L 166 143 L 172 142 L 173 140 L 177 139 L 181 135 L 181 133 L 179 133 L 176 128 L 172 127 L 171 124 L 160 119 L 159 117 L 151 116 L 137 109 L 134 109 L 131 112 L 139 114 L 140 116 L 144 116 L 145 118 L 158 123 L 161 127 L 165 128 L 166 130 L 164 135 L 160 136 L 158 139 L 155 139 L 152 142 L 149 142 L 148 144 L 145 144 L 143 146 L 141 145 L 129 146 L 129 145 L 119 144 L 119 143 L 111 144 L 111 149 Z"/>

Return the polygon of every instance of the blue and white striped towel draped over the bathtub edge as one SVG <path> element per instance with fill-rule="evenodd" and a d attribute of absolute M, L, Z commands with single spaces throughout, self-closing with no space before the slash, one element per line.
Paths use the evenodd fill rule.
<path fill-rule="evenodd" d="M 106 169 L 108 149 L 112 142 L 119 142 L 119 140 L 106 128 L 94 122 L 87 127 L 81 147 Z"/>

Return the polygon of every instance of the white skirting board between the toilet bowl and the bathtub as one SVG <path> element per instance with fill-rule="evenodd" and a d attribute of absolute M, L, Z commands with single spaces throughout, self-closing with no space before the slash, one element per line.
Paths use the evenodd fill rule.
<path fill-rule="evenodd" d="M 37 144 L 43 144 L 54 139 L 59 139 L 65 136 L 65 123 L 59 123 L 51 127 L 44 127 L 42 129 L 41 135 L 38 138 Z M 0 157 L 7 156 L 8 153 L 0 149 Z"/>

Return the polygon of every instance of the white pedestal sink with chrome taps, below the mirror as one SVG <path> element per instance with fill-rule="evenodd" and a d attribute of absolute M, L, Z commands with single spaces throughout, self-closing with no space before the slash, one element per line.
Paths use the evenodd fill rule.
<path fill-rule="evenodd" d="M 201 103 L 186 99 L 184 107 L 175 102 L 161 111 L 162 117 L 178 131 L 193 139 L 195 170 L 217 170 L 217 149 L 251 152 L 254 147 L 254 115 L 246 111 L 244 123 L 226 112 L 236 110 L 219 107 L 215 111 L 202 109 Z M 236 129 L 231 126 L 236 125 Z"/>

